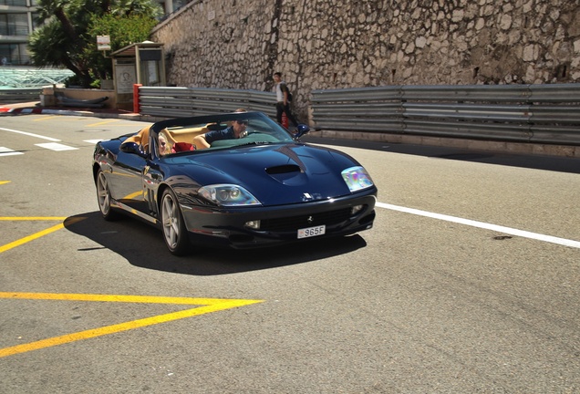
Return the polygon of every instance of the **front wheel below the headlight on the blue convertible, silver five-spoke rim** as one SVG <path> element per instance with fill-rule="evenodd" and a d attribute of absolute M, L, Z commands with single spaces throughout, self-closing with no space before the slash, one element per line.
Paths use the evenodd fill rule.
<path fill-rule="evenodd" d="M 171 189 L 165 189 L 161 197 L 161 226 L 163 239 L 171 254 L 186 254 L 190 246 L 187 229 L 179 202 Z"/>

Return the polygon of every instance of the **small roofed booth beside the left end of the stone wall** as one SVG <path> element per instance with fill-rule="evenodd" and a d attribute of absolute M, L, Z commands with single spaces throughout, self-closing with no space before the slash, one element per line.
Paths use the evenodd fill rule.
<path fill-rule="evenodd" d="M 162 87 L 165 82 L 163 44 L 144 41 L 110 54 L 118 109 L 133 109 L 133 85 Z"/>

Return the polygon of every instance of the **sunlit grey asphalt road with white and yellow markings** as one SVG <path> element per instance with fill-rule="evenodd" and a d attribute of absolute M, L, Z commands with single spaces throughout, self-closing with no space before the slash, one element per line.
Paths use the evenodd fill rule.
<path fill-rule="evenodd" d="M 310 137 L 372 230 L 178 258 L 98 214 L 94 140 L 143 125 L 0 117 L 1 393 L 580 392 L 578 160 Z"/>

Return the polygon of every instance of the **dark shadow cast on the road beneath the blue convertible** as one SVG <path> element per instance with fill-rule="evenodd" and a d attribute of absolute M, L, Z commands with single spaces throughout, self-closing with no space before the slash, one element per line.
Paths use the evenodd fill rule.
<path fill-rule="evenodd" d="M 355 234 L 252 250 L 193 246 L 191 254 L 177 257 L 167 250 L 161 230 L 134 218 L 106 222 L 98 212 L 83 213 L 68 217 L 65 228 L 102 245 L 79 249 L 80 252 L 105 248 L 135 266 L 185 275 L 228 275 L 302 264 L 349 254 L 367 245 Z"/>

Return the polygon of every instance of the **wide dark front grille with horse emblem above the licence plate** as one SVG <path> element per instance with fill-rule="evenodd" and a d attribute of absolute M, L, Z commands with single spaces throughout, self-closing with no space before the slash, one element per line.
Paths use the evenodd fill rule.
<path fill-rule="evenodd" d="M 350 217 L 350 208 L 306 215 L 266 219 L 260 223 L 260 230 L 271 232 L 296 231 L 301 228 L 314 227 L 321 224 L 333 225 L 342 223 Z"/>

